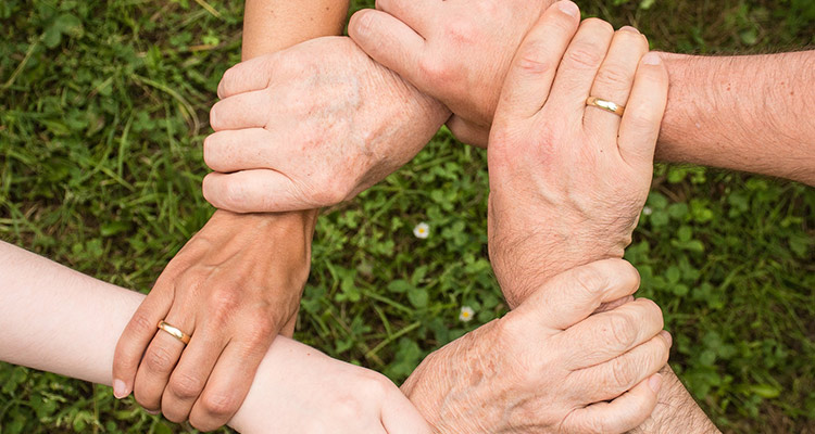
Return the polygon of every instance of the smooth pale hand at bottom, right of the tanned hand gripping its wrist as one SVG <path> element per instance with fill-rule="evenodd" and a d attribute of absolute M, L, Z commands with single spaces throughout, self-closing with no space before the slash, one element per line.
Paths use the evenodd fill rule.
<path fill-rule="evenodd" d="M 387 378 L 275 340 L 229 425 L 241 433 L 430 434 Z"/>

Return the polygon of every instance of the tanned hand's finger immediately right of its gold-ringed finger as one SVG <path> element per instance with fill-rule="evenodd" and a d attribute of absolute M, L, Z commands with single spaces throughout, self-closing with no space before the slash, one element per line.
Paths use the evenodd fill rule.
<path fill-rule="evenodd" d="M 216 333 L 206 329 L 201 329 L 190 340 L 161 398 L 161 411 L 165 418 L 176 423 L 189 419 L 192 405 L 203 392 L 225 344 Z"/>

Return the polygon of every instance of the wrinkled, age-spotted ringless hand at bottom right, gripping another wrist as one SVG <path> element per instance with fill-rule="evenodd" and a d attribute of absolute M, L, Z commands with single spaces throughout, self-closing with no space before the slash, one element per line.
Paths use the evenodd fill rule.
<path fill-rule="evenodd" d="M 402 386 L 436 432 L 620 433 L 656 405 L 670 335 L 639 275 L 607 259 L 551 279 L 517 309 L 428 356 Z M 605 403 L 611 400 L 611 403 Z"/>

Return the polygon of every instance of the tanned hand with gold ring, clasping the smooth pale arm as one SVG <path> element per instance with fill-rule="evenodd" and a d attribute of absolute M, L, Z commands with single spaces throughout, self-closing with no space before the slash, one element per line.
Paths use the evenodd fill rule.
<path fill-rule="evenodd" d="M 134 391 L 146 409 L 202 431 L 226 423 L 278 331 L 293 331 L 315 217 L 215 213 L 123 332 L 116 396 Z M 159 331 L 160 320 L 191 335 L 189 345 Z"/>

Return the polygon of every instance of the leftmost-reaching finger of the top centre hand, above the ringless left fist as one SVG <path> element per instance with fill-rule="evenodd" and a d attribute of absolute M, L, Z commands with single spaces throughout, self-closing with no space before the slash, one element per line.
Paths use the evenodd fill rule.
<path fill-rule="evenodd" d="M 425 40 L 406 24 L 386 12 L 363 9 L 351 16 L 348 35 L 377 63 L 428 89 L 418 67 Z"/>

